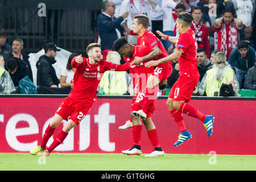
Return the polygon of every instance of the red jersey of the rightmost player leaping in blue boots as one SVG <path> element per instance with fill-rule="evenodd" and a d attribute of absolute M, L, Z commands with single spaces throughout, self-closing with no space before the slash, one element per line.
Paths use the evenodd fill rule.
<path fill-rule="evenodd" d="M 192 29 L 180 35 L 177 42 L 177 49 L 183 51 L 178 59 L 180 66 L 179 75 L 186 77 L 200 76 L 197 67 L 196 36 Z"/>

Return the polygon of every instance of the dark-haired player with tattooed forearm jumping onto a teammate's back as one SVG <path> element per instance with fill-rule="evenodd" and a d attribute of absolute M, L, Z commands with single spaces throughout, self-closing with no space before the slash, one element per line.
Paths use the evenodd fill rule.
<path fill-rule="evenodd" d="M 149 30 L 148 17 L 144 14 L 135 15 L 133 23 L 133 32 L 138 34 L 137 46 L 148 46 L 151 48 L 151 52 L 145 56 L 136 56 L 132 61 L 132 64 L 140 64 L 142 61 L 150 59 L 161 59 L 168 56 L 166 49 L 160 40 Z M 147 118 L 147 108 L 153 102 L 158 94 L 159 85 L 163 86 L 167 84 L 167 78 L 171 75 L 172 63 L 164 63 L 155 67 L 154 73 L 147 80 L 146 93 L 139 92 L 137 101 L 134 105 L 141 106 L 141 109 L 133 110 L 134 115 L 141 117 L 142 119 Z M 138 107 L 139 108 L 139 107 Z M 129 125 L 126 123 L 125 125 Z M 124 125 L 124 126 L 125 126 Z"/>

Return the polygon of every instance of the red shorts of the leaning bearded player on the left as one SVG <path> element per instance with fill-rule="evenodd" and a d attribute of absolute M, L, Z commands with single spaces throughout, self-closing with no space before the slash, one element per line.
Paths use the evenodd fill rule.
<path fill-rule="evenodd" d="M 92 104 L 85 105 L 84 102 L 73 100 L 70 97 L 64 98 L 55 114 L 59 114 L 64 120 L 71 119 L 77 125 L 84 119 Z M 70 118 L 68 118 L 70 116 Z"/>

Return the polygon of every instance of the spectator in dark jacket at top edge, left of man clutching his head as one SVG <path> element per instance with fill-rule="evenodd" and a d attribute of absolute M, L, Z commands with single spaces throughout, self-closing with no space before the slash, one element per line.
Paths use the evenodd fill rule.
<path fill-rule="evenodd" d="M 221 11 L 224 6 L 221 3 L 217 3 L 217 0 L 200 1 L 197 6 L 201 6 L 203 10 L 203 16 L 201 17 L 202 22 L 208 27 L 209 35 L 209 47 L 210 52 L 214 50 L 214 34 L 217 38 L 217 32 L 213 26 L 213 22 L 216 18 L 221 17 Z"/>

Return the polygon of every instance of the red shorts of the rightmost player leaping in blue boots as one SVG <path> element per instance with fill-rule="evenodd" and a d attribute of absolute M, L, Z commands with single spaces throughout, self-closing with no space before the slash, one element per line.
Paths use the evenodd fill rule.
<path fill-rule="evenodd" d="M 189 102 L 199 77 L 179 77 L 172 86 L 169 97 L 174 101 Z"/>

